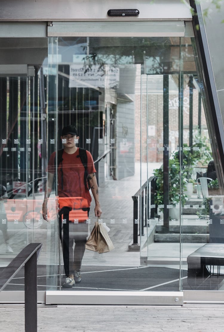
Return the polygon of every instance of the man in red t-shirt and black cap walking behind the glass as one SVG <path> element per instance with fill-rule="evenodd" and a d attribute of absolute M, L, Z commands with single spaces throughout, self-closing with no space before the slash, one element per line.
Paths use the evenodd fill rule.
<path fill-rule="evenodd" d="M 76 127 L 73 125 L 63 127 L 61 139 L 64 148 L 58 151 L 57 163 L 56 152 L 51 154 L 48 162 L 42 213 L 47 221 L 47 200 L 51 193 L 57 164 L 59 235 L 66 275 L 62 287 L 69 288 L 81 282 L 80 269 L 88 235 L 86 219 L 89 216 L 92 200 L 89 187 L 95 200 L 96 217 L 101 216 L 102 210 L 93 158 L 89 151 L 76 146 L 76 140 L 79 139 Z"/>

